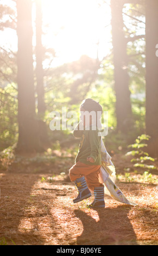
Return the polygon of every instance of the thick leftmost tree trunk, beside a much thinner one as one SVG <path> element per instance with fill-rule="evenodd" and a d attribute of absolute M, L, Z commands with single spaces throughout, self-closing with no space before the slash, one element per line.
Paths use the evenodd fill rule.
<path fill-rule="evenodd" d="M 39 130 L 35 114 L 31 0 L 17 0 L 17 84 L 18 84 L 18 143 L 17 151 L 40 151 Z"/>

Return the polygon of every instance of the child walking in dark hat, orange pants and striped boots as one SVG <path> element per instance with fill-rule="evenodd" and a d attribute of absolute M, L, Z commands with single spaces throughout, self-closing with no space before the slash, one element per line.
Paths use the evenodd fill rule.
<path fill-rule="evenodd" d="M 94 201 L 89 207 L 105 208 L 104 185 L 99 182 L 99 170 L 102 165 L 100 156 L 100 136 L 98 127 L 102 115 L 102 106 L 93 99 L 86 99 L 80 106 L 80 123 L 75 127 L 73 135 L 81 138 L 75 164 L 69 169 L 69 178 L 78 188 L 78 197 L 73 203 L 91 197 Z M 87 114 L 88 113 L 88 114 Z"/>

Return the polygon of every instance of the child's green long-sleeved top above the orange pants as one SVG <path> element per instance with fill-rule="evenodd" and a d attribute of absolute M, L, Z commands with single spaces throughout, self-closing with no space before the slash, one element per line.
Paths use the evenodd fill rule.
<path fill-rule="evenodd" d="M 79 123 L 80 124 L 80 123 Z M 100 136 L 98 136 L 98 130 L 79 130 L 79 124 L 73 131 L 73 135 L 77 138 L 81 138 L 79 144 L 79 151 L 75 162 L 83 162 L 89 165 L 101 165 L 101 156 L 100 156 Z M 87 157 L 93 157 L 94 163 L 87 161 Z"/>

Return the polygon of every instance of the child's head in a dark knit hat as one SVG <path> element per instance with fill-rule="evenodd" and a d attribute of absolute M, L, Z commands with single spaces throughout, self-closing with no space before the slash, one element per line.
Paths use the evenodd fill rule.
<path fill-rule="evenodd" d="M 80 118 L 84 126 L 95 125 L 98 128 L 102 127 L 100 118 L 103 113 L 103 109 L 102 109 L 102 106 L 99 104 L 99 102 L 93 99 L 84 100 L 81 103 L 80 112 L 81 112 Z M 87 115 L 85 113 L 87 113 Z"/>

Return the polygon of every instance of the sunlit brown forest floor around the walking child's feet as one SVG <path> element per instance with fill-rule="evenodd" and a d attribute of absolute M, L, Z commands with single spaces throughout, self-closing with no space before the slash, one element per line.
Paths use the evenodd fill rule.
<path fill-rule="evenodd" d="M 0 173 L 0 245 L 158 245 L 156 172 L 143 181 L 130 171 L 129 160 L 113 155 L 116 184 L 137 203 L 130 206 L 105 195 L 105 209 L 73 204 L 77 189 L 69 181 L 74 160 L 37 166 L 15 164 Z"/>

